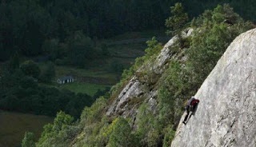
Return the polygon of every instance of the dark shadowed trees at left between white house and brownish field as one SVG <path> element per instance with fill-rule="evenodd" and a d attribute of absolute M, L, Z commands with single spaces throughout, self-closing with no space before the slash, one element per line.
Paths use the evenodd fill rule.
<path fill-rule="evenodd" d="M 34 63 L 32 64 L 34 65 Z M 28 72 L 33 70 L 24 69 L 26 69 L 25 71 L 29 75 L 30 73 L 35 73 Z M 94 97 L 90 97 L 87 94 L 75 94 L 68 90 L 59 90 L 38 85 L 38 81 L 34 77 L 26 76 L 19 69 L 13 73 L 6 70 L 1 75 L 0 83 L 1 109 L 49 116 L 54 116 L 59 110 L 63 110 L 78 118 L 83 107 L 85 105 L 91 105 L 94 101 Z"/>

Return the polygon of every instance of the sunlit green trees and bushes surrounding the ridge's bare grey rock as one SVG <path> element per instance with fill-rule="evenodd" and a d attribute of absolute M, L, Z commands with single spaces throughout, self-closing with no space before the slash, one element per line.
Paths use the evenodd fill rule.
<path fill-rule="evenodd" d="M 230 42 L 252 26 L 235 14 L 230 6 L 223 5 L 214 10 L 206 10 L 193 20 L 191 27 L 194 28 L 194 33 L 183 40 L 186 46 L 179 43 L 170 47 L 170 50 L 176 50 L 176 58 L 170 59 L 168 68 L 158 81 L 158 105 L 154 113 L 146 103 L 140 105 L 136 117 L 137 128 L 131 128 L 129 118 L 106 117 L 109 100 L 101 97 L 90 108 L 83 110 L 78 125 L 70 125 L 70 117 L 58 114 L 62 117 L 58 116 L 54 125 L 46 125 L 45 133 L 42 133 L 37 145 L 64 146 L 75 143 L 78 146 L 170 146 L 182 115 L 183 102 L 196 93 Z M 154 38 L 148 45 L 146 56 L 138 58 L 134 66 L 124 72 L 121 83 L 112 89 L 110 101 L 113 101 L 136 70 L 141 68 L 142 74 L 148 74 L 143 67 L 150 64 L 161 46 Z M 67 122 L 63 121 L 66 117 Z M 63 118 L 62 121 L 58 121 L 60 118 Z M 134 144 L 134 141 L 139 144 Z"/>

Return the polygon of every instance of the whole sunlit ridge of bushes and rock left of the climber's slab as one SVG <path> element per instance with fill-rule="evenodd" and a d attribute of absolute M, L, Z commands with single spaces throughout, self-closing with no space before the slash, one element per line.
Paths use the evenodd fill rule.
<path fill-rule="evenodd" d="M 86 107 L 79 122 L 59 113 L 36 145 L 170 146 L 186 100 L 198 91 L 230 42 L 251 28 L 224 5 L 206 10 L 165 46 L 152 38 L 145 56 L 123 72 L 110 95 Z"/>

